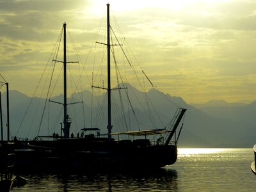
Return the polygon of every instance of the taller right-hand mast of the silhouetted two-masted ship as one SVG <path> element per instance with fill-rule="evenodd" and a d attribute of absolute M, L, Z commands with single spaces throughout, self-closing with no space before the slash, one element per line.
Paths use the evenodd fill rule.
<path fill-rule="evenodd" d="M 109 24 L 109 3 L 107 4 L 107 29 L 108 29 L 108 138 L 111 140 L 111 81 L 110 81 L 110 24 Z"/>

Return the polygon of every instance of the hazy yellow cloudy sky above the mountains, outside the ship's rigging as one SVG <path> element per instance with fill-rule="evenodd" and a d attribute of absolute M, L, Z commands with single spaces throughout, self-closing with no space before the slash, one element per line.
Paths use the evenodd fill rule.
<path fill-rule="evenodd" d="M 29 96 L 67 22 L 82 60 L 110 3 L 148 77 L 186 102 L 256 99 L 255 0 L 0 0 L 0 72 Z"/>

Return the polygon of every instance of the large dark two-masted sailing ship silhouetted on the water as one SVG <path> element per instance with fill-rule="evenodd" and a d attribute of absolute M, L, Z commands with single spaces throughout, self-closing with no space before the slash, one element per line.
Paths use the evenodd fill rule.
<path fill-rule="evenodd" d="M 161 168 L 175 163 L 177 160 L 177 143 L 182 125 L 180 122 L 186 113 L 185 108 L 177 109 L 168 127 L 138 131 L 112 132 L 111 122 L 111 42 L 109 4 L 107 4 L 107 46 L 108 57 L 108 133 L 100 134 L 97 127 L 84 127 L 83 136 L 70 134 L 72 120 L 67 113 L 67 47 L 66 26 L 63 24 L 63 127 L 61 135 L 37 136 L 36 140 L 16 140 L 17 166 L 20 170 L 138 170 L 145 168 Z M 57 60 L 56 60 L 57 61 Z M 57 102 L 58 103 L 58 102 Z M 96 132 L 97 134 L 85 134 Z M 63 134 L 62 134 L 63 133 Z M 121 136 L 128 139 L 121 140 Z M 137 138 L 139 137 L 139 138 Z M 142 137 L 142 138 L 141 138 Z M 47 138 L 48 140 L 44 140 Z M 49 140 L 49 138 L 51 140 Z M 149 138 L 154 138 L 150 141 Z"/>

